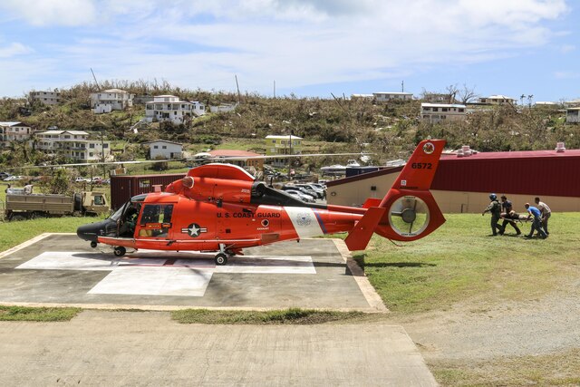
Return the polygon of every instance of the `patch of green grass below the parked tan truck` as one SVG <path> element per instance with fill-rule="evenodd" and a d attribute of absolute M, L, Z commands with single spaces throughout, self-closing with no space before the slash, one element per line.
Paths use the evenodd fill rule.
<path fill-rule="evenodd" d="M 76 232 L 77 227 L 98 220 L 100 218 L 63 217 L 3 222 L 0 223 L 0 252 L 45 232 Z"/>

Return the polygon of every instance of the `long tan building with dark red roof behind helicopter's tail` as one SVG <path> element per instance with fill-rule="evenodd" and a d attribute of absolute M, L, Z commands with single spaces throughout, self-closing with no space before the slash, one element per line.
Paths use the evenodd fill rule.
<path fill-rule="evenodd" d="M 361 206 L 366 198 L 383 198 L 402 169 L 384 168 L 328 181 L 328 204 Z M 563 143 L 551 150 L 464 150 L 441 155 L 430 191 L 444 214 L 480 213 L 489 204 L 491 192 L 506 194 L 518 213 L 523 213 L 524 204 L 532 203 L 536 196 L 552 211 L 580 211 L 580 179 L 571 179 L 570 174 L 578 169 L 580 150 L 566 150 Z M 529 179 L 530 170 L 534 179 Z"/>

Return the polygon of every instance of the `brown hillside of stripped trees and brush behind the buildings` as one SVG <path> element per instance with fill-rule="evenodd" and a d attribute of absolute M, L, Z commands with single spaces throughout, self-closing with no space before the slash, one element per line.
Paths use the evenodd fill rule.
<path fill-rule="evenodd" d="M 105 82 L 101 86 L 138 95 L 172 94 L 207 105 L 237 101 L 236 94 L 189 91 L 165 82 L 160 85 Z M 183 142 L 193 152 L 213 148 L 264 152 L 266 135 L 291 132 L 304 138 L 306 151 L 367 151 L 375 154 L 375 163 L 404 159 L 419 140 L 429 136 L 448 140 L 449 149 L 470 145 L 480 151 L 540 150 L 554 148 L 556 141 L 565 141 L 570 149 L 580 148 L 580 127 L 566 125 L 564 114 L 556 110 L 532 107 L 516 111 L 511 106 L 496 107 L 471 113 L 467 121 L 430 124 L 419 120 L 420 101 L 373 103 L 294 95 L 266 98 L 245 94 L 235 112 L 211 113 L 185 125 L 153 123 L 133 133 L 131 125 L 144 117 L 144 105 L 97 115 L 89 108 L 91 92 L 97 92 L 97 87 L 89 83 L 61 90 L 62 102 L 52 108 L 26 99 L 4 99 L 0 101 L 0 121 L 23 121 L 34 130 L 57 126 L 89 131 L 95 138 L 104 135 L 113 141 L 121 160 L 142 157 L 136 144 L 158 138 Z M 21 108 L 26 103 L 29 111 Z M 11 144 L 8 150 L 2 153 L 0 163 L 22 165 L 43 161 L 43 154 L 26 144 Z"/>

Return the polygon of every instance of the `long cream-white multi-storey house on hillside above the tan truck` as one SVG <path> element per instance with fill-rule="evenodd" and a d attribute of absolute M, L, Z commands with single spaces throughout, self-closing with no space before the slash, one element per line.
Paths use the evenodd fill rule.
<path fill-rule="evenodd" d="M 89 140 L 86 131 L 42 131 L 35 134 L 39 150 L 75 161 L 107 160 L 111 156 L 108 141 Z"/>

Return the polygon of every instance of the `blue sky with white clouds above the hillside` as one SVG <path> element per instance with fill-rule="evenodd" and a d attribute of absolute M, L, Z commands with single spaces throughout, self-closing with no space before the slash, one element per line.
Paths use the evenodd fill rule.
<path fill-rule="evenodd" d="M 237 76 L 241 92 L 264 96 L 455 85 L 570 101 L 580 0 L 0 2 L 0 97 L 92 82 L 91 69 L 98 81 L 225 92 Z"/>

